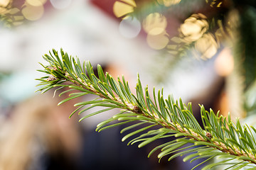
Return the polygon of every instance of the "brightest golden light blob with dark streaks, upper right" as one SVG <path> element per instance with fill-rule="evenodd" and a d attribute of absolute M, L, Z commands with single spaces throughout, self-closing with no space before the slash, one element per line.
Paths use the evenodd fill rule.
<path fill-rule="evenodd" d="M 209 25 L 206 21 L 206 16 L 198 13 L 187 18 L 181 25 L 180 31 L 185 42 L 193 42 L 201 38 L 208 28 Z"/>

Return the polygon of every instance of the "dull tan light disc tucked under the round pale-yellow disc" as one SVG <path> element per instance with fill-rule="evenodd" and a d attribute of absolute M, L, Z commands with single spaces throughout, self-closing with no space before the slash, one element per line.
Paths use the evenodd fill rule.
<path fill-rule="evenodd" d="M 159 35 L 148 34 L 146 37 L 146 42 L 148 43 L 149 47 L 153 48 L 154 50 L 161 50 L 168 45 L 169 38 L 167 37 L 166 32 Z"/>

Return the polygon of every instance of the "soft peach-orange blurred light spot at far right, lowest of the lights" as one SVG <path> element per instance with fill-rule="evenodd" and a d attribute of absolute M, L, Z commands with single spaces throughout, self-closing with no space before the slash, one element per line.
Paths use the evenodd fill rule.
<path fill-rule="evenodd" d="M 222 77 L 228 76 L 234 69 L 234 58 L 229 48 L 225 48 L 214 62 L 215 71 Z"/>

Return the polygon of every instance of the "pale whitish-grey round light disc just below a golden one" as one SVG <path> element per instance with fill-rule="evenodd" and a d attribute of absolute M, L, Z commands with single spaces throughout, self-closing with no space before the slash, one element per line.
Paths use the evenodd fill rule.
<path fill-rule="evenodd" d="M 119 24 L 119 32 L 125 38 L 135 38 L 141 30 L 141 23 L 137 18 L 127 16 Z"/>

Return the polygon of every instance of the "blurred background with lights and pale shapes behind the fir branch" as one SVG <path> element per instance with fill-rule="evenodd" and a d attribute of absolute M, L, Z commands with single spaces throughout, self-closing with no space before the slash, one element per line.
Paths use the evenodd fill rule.
<path fill-rule="evenodd" d="M 237 0 L 0 0 L 0 169 L 191 169 L 158 162 L 95 132 L 114 113 L 78 123 L 70 101 L 35 93 L 42 55 L 62 47 L 149 89 L 255 124 L 256 3 Z M 65 96 L 64 96 L 65 97 Z M 90 100 L 92 96 L 82 98 Z M 200 120 L 200 118 L 198 118 Z M 164 141 L 159 141 L 164 142 Z M 200 169 L 200 167 L 199 167 Z"/>

